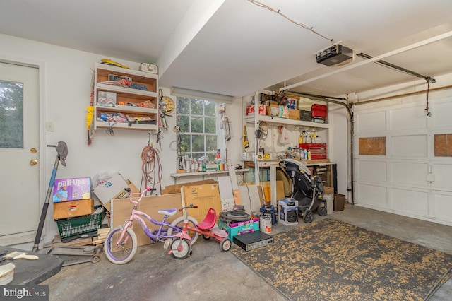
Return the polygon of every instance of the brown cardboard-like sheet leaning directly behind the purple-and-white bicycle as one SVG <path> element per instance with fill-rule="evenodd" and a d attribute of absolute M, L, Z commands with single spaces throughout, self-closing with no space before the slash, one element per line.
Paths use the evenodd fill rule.
<path fill-rule="evenodd" d="M 162 220 L 162 214 L 158 213 L 160 209 L 170 209 L 170 208 L 181 208 L 181 194 L 167 194 L 162 196 L 144 196 L 141 199 L 138 210 L 147 213 L 149 216 L 154 218 L 155 220 Z M 110 225 L 112 228 L 118 225 L 124 225 L 125 220 L 129 220 L 130 213 L 132 211 L 133 205 L 130 203 L 129 199 L 113 199 L 111 202 L 111 220 Z M 182 216 L 182 213 L 177 211 L 174 216 L 170 216 L 168 218 L 169 223 L 177 217 Z M 158 226 L 150 223 L 149 220 L 145 220 L 148 228 L 153 230 L 157 230 Z M 141 225 L 134 220 L 133 221 L 133 231 L 136 234 L 136 238 L 138 240 L 138 246 L 143 246 L 145 244 L 150 244 L 152 241 L 145 235 L 143 228 Z M 152 232 L 151 231 L 151 232 Z"/>

